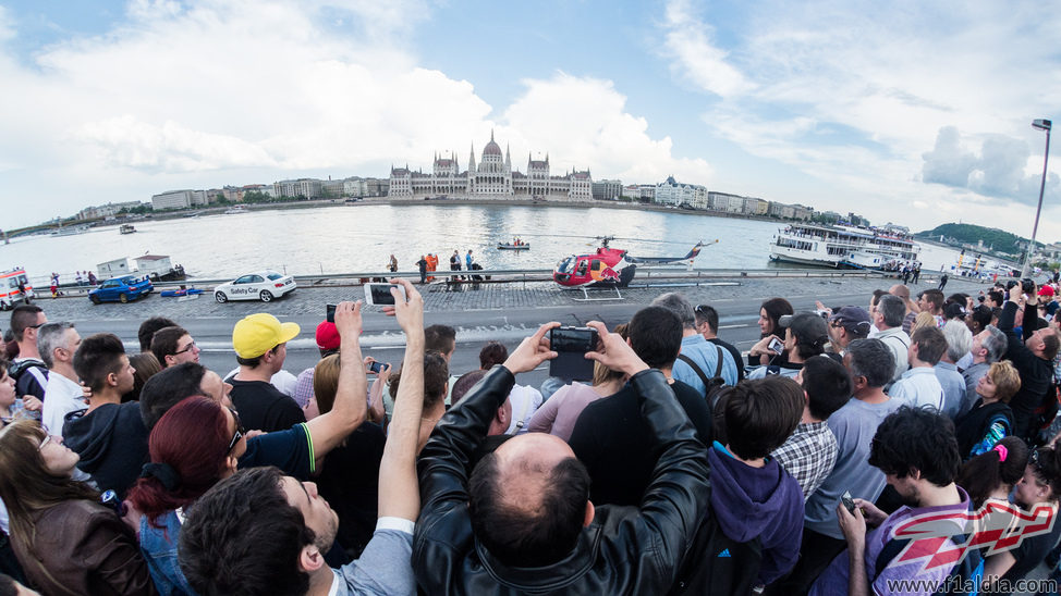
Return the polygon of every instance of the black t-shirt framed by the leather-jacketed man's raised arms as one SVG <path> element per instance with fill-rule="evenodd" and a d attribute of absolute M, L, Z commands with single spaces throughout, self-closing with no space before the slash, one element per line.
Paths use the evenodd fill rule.
<path fill-rule="evenodd" d="M 675 381 L 671 389 L 700 442 L 710 445 L 711 411 L 704 396 L 681 381 Z M 659 449 L 630 384 L 615 395 L 586 406 L 568 443 L 589 471 L 589 499 L 594 505 L 641 505 Z"/>

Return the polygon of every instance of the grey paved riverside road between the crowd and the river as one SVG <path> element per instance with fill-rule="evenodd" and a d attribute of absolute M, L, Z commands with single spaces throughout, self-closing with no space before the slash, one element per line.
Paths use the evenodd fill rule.
<path fill-rule="evenodd" d="M 784 296 L 797 311 L 814 308 L 816 299 L 829 306 L 867 305 L 876 288 L 887 289 L 890 280 L 824 280 L 824 278 L 737 278 L 717 282 L 717 285 L 666 288 L 630 288 L 623 300 L 580 301 L 581 293 L 560 290 L 551 283 L 483 284 L 478 289 L 448 290 L 444 285 L 430 285 L 425 291 L 426 324 L 447 324 L 458 330 L 458 349 L 451 362 L 454 374 L 478 368 L 478 352 L 491 339 L 514 349 L 538 325 L 560 321 L 565 325 L 582 325 L 599 320 L 609 326 L 630 320 L 634 312 L 666 291 L 682 291 L 696 303 L 710 303 L 719 311 L 719 335 L 747 350 L 759 336 L 759 303 L 772 296 Z M 928 284 L 912 287 L 926 289 Z M 951 280 L 948 293 L 976 294 L 986 285 L 962 278 Z M 600 296 L 608 293 L 601 291 Z M 136 330 L 141 321 L 153 315 L 169 316 L 191 332 L 203 348 L 200 361 L 224 374 L 235 368 L 232 352 L 232 326 L 253 312 L 271 312 L 283 321 L 302 326 L 298 338 L 289 344 L 284 368 L 295 374 L 312 367 L 318 359 L 313 332 L 324 320 L 325 305 L 343 299 L 363 297 L 361 286 L 300 288 L 294 294 L 268 305 L 261 302 L 229 302 L 218 305 L 210 296 L 192 299 L 149 296 L 129 305 L 93 306 L 86 298 L 40 299 L 50 321 L 69 320 L 76 323 L 82 335 L 114 333 L 126 348 L 137 349 Z M 366 307 L 365 332 L 362 346 L 366 355 L 378 360 L 398 363 L 402 359 L 403 338 L 393 319 L 383 316 L 378 308 Z M 2 321 L 2 319 L 0 319 Z M 545 368 L 521 377 L 525 384 L 538 385 L 547 376 Z"/>

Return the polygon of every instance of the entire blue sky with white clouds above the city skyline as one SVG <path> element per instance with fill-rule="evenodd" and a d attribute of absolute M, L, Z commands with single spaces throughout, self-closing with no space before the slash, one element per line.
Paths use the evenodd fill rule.
<path fill-rule="evenodd" d="M 1029 236 L 1030 1 L 0 0 L 0 228 L 182 188 L 513 166 Z M 1038 239 L 1061 240 L 1061 163 Z"/>

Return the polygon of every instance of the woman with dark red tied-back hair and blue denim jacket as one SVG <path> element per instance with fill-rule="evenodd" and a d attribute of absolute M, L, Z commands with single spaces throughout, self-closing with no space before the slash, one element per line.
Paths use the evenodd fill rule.
<path fill-rule="evenodd" d="M 190 397 L 158 421 L 148 442 L 151 461 L 130 491 L 142 513 L 139 545 L 163 595 L 195 594 L 176 560 L 184 508 L 236 471 L 246 439 L 234 410 Z"/>

